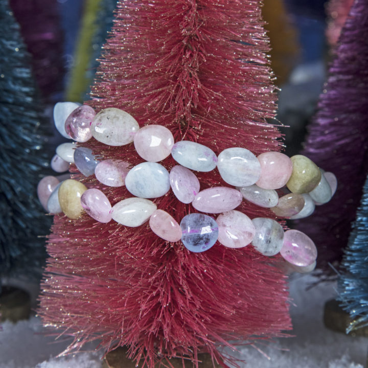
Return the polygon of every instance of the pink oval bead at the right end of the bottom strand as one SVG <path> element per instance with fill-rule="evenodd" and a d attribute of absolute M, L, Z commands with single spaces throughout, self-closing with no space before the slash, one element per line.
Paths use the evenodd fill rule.
<path fill-rule="evenodd" d="M 295 266 L 309 266 L 317 258 L 317 248 L 311 238 L 298 230 L 288 230 L 280 254 Z"/>

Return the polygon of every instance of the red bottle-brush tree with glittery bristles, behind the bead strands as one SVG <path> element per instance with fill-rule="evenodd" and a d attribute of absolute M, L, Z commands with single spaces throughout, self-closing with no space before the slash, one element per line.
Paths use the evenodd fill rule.
<path fill-rule="evenodd" d="M 117 107 L 141 126 L 168 127 L 219 154 L 245 147 L 256 155 L 281 149 L 280 133 L 267 124 L 275 116 L 274 86 L 266 53 L 260 1 L 122 1 L 104 47 L 88 102 L 96 111 Z M 133 144 L 110 147 L 92 139 L 83 146 L 101 158 L 143 162 Z M 161 162 L 168 170 L 170 157 Z M 76 170 L 73 170 L 76 172 Z M 228 186 L 217 169 L 196 173 L 201 189 Z M 131 197 L 95 176 L 75 174 L 101 189 L 112 205 Z M 170 191 L 154 199 L 178 222 L 190 212 Z M 250 218 L 271 217 L 243 201 Z M 44 324 L 75 336 L 70 350 L 99 339 L 106 352 L 130 347 L 130 357 L 153 368 L 165 357 L 208 352 L 228 340 L 283 336 L 290 329 L 287 279 L 281 257 L 264 257 L 252 245 L 216 243 L 203 253 L 168 243 L 148 224 L 130 228 L 56 216 L 40 298 Z M 224 365 L 225 363 L 222 362 Z"/>

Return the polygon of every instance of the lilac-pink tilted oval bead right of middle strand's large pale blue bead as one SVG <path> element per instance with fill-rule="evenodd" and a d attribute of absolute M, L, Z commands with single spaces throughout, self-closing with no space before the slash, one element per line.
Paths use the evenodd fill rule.
<path fill-rule="evenodd" d="M 198 178 L 189 169 L 176 165 L 170 170 L 170 185 L 175 197 L 182 203 L 191 203 L 198 194 Z"/>

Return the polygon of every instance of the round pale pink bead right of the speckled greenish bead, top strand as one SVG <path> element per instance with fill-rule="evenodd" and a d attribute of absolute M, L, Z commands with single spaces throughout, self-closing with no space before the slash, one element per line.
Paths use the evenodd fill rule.
<path fill-rule="evenodd" d="M 146 125 L 134 135 L 135 150 L 149 162 L 158 162 L 168 157 L 173 145 L 171 131 L 162 125 Z"/>

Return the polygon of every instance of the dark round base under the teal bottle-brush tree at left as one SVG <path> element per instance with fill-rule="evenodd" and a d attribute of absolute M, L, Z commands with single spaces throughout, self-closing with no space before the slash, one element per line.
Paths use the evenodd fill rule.
<path fill-rule="evenodd" d="M 28 319 L 31 314 L 31 297 L 21 289 L 3 286 L 0 294 L 0 321 L 17 322 Z"/>

